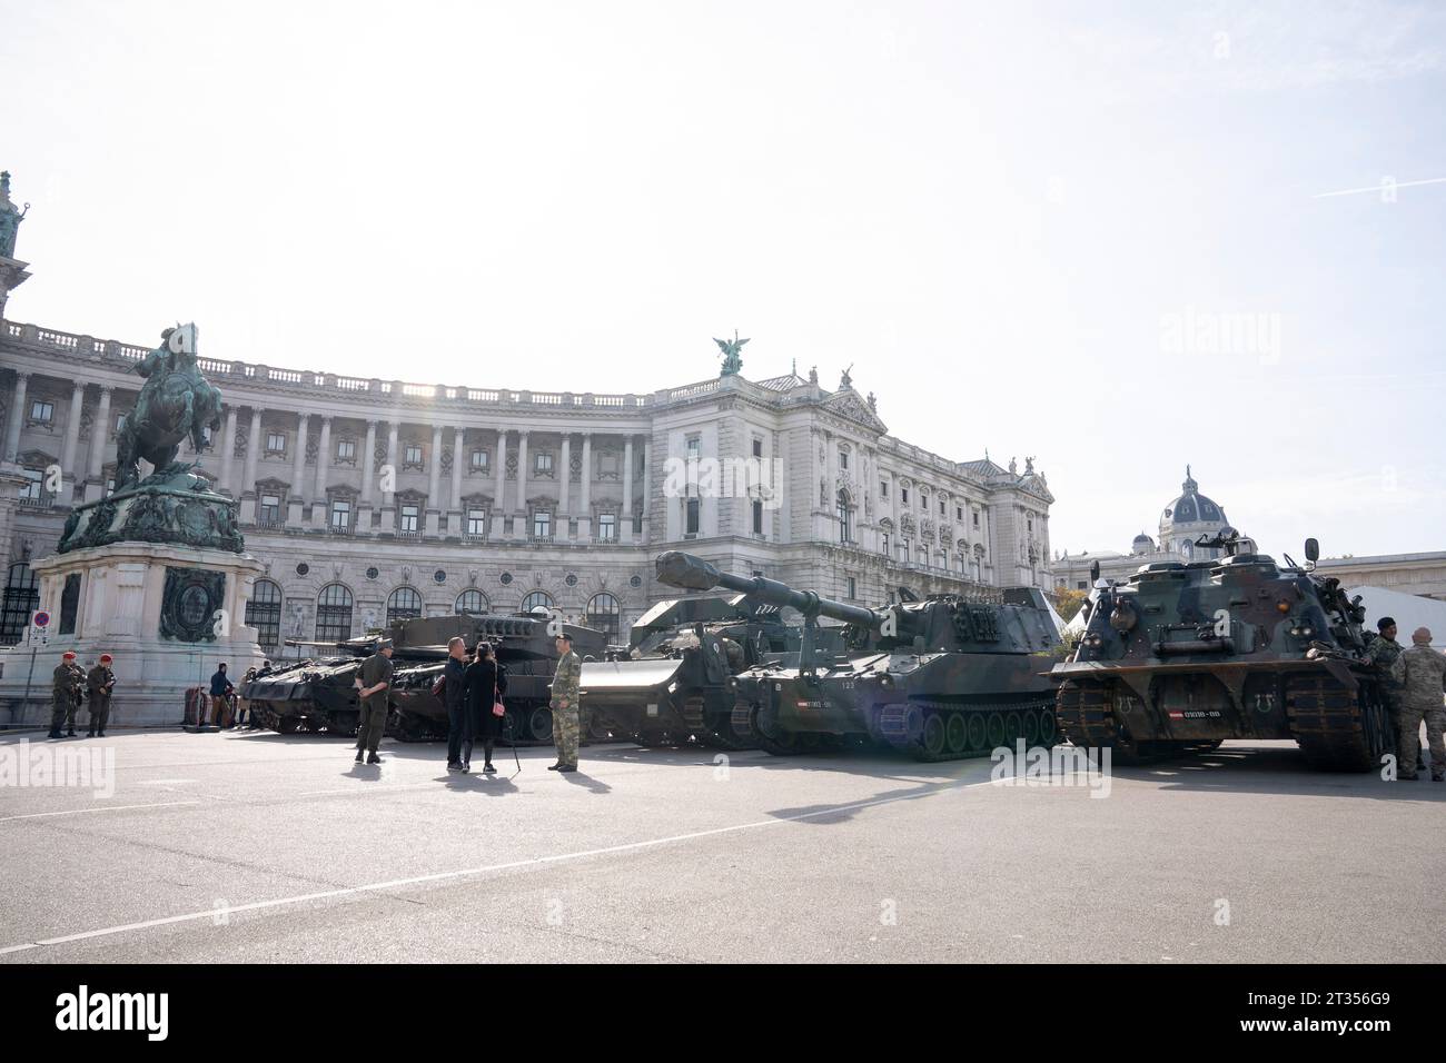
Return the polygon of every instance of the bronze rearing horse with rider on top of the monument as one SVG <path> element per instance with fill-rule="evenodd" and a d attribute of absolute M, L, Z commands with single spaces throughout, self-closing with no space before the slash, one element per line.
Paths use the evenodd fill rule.
<path fill-rule="evenodd" d="M 195 363 L 194 324 L 168 328 L 161 346 L 136 363 L 146 377 L 136 408 L 116 434 L 116 490 L 140 479 L 140 458 L 155 466 L 156 476 L 185 471 L 176 466 L 181 443 L 192 450 L 205 445 L 205 430 L 221 427 L 221 392 L 207 383 Z"/>

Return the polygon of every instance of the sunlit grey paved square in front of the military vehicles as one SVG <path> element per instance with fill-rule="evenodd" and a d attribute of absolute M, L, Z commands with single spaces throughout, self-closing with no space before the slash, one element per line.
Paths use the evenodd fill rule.
<path fill-rule="evenodd" d="M 1446 784 L 1283 742 L 1116 768 L 1108 797 L 873 754 L 609 745 L 561 777 L 532 749 L 489 780 L 435 743 L 104 745 L 110 797 L 0 785 L 0 962 L 1442 955 Z"/>

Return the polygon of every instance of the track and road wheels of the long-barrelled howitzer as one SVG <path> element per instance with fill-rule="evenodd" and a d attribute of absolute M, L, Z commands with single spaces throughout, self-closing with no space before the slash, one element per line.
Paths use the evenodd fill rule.
<path fill-rule="evenodd" d="M 1058 738 L 1054 700 L 959 704 L 905 701 L 879 712 L 884 739 L 917 761 L 963 761 L 988 756 L 999 746 L 1053 746 Z"/>

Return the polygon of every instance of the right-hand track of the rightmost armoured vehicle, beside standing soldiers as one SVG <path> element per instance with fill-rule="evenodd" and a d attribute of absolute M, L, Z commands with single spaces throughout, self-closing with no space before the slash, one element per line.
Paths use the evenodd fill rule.
<path fill-rule="evenodd" d="M 1385 709 L 1325 671 L 1287 680 L 1285 717 L 1306 759 L 1322 771 L 1372 771 L 1390 748 Z"/>

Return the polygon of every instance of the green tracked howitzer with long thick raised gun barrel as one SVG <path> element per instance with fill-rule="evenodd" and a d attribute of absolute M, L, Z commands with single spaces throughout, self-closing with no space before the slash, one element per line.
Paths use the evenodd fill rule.
<path fill-rule="evenodd" d="M 769 754 L 884 743 L 947 761 L 1018 739 L 1054 742 L 1047 655 L 1058 632 L 1034 587 L 923 600 L 901 592 L 898 605 L 868 609 L 720 573 L 680 551 L 661 554 L 656 568 L 672 587 L 726 587 L 803 615 L 795 658 L 765 661 L 732 680 L 735 730 Z M 818 618 L 843 625 L 842 646 L 821 639 Z"/>

